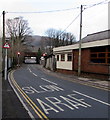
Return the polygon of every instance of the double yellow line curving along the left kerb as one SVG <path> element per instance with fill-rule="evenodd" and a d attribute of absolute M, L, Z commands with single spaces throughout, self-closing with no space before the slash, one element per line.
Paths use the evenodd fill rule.
<path fill-rule="evenodd" d="M 41 120 L 49 120 L 47 116 L 36 106 L 36 104 L 27 96 L 27 94 L 20 88 L 20 86 L 17 84 L 17 82 L 14 80 L 13 77 L 14 71 L 10 72 L 10 80 L 12 81 L 13 85 L 16 87 L 16 89 L 19 91 L 19 93 L 23 96 L 23 98 L 26 100 L 26 102 L 31 106 L 31 108 L 34 110 L 34 112 L 38 115 L 38 117 Z"/>

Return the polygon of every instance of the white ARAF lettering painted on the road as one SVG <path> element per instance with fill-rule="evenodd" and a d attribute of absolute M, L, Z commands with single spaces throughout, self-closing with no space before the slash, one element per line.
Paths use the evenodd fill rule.
<path fill-rule="evenodd" d="M 40 106 L 42 107 L 43 111 L 46 114 L 49 114 L 49 111 L 54 112 L 63 112 L 64 108 L 66 107 L 70 110 L 79 109 L 79 107 L 91 107 L 88 103 L 82 101 L 83 99 L 78 99 L 73 97 L 75 94 L 67 95 L 67 97 L 59 96 L 60 98 L 56 97 L 45 97 L 48 103 L 42 101 L 41 99 L 36 99 Z M 50 103 L 50 104 L 49 104 Z M 52 107 L 54 105 L 54 107 Z"/>

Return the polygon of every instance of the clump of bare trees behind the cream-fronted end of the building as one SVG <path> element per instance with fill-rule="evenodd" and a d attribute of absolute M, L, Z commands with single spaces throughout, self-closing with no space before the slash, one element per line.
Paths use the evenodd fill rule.
<path fill-rule="evenodd" d="M 46 31 L 48 36 L 48 46 L 59 47 L 59 46 L 66 46 L 72 45 L 76 42 L 76 38 L 72 33 L 62 32 L 61 30 L 56 30 L 50 28 Z"/>

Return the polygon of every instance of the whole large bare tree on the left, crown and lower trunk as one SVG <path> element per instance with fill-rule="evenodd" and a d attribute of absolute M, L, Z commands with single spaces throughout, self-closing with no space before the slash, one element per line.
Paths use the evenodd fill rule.
<path fill-rule="evenodd" d="M 16 17 L 14 19 L 7 19 L 6 21 L 7 34 L 11 39 L 11 53 L 12 59 L 17 59 L 17 51 L 23 52 L 23 42 L 25 37 L 32 33 L 28 26 L 28 21 L 23 17 Z"/>

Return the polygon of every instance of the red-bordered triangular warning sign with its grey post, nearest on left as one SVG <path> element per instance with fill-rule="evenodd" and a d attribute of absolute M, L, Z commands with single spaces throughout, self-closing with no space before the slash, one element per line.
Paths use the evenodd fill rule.
<path fill-rule="evenodd" d="M 10 48 L 10 45 L 6 42 L 4 45 L 3 45 L 3 48 L 5 48 L 5 71 L 4 71 L 4 74 L 5 74 L 5 80 L 7 80 L 7 67 L 8 67 L 8 57 L 7 57 L 7 54 L 8 54 L 8 49 Z"/>

